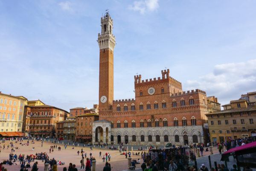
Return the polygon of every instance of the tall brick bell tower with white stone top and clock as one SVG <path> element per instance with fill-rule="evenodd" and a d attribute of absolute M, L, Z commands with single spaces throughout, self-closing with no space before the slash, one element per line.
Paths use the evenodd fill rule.
<path fill-rule="evenodd" d="M 113 20 L 107 12 L 101 17 L 99 43 L 99 113 L 110 110 L 113 102 L 113 55 L 116 45 L 112 32 Z"/>

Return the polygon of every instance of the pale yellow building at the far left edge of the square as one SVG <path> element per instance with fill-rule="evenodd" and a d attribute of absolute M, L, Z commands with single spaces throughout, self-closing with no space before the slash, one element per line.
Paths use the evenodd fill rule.
<path fill-rule="evenodd" d="M 0 92 L 0 134 L 21 132 L 26 98 Z"/>

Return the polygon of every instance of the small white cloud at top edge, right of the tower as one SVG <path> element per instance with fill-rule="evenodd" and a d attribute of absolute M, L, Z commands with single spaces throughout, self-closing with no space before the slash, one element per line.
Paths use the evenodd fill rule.
<path fill-rule="evenodd" d="M 155 11 L 158 7 L 158 0 L 138 0 L 134 1 L 133 5 L 129 6 L 129 9 L 144 14 L 146 11 Z"/>

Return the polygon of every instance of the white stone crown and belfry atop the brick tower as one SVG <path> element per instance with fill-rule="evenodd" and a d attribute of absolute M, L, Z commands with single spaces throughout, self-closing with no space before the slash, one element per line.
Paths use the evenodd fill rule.
<path fill-rule="evenodd" d="M 113 35 L 113 20 L 107 12 L 101 17 L 101 33 L 98 33 L 99 49 L 109 48 L 112 51 L 116 45 L 116 38 Z"/>

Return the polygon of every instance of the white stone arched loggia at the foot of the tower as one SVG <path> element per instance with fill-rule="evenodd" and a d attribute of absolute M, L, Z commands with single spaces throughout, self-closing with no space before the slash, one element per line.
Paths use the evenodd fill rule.
<path fill-rule="evenodd" d="M 111 122 L 99 120 L 93 122 L 93 144 L 111 143 Z"/>

